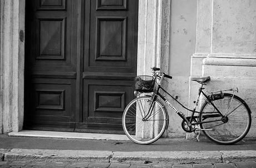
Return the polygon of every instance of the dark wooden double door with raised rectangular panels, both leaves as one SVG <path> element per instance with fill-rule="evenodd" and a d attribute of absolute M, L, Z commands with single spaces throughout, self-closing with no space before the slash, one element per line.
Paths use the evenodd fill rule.
<path fill-rule="evenodd" d="M 137 0 L 27 0 L 24 129 L 122 133 Z"/>

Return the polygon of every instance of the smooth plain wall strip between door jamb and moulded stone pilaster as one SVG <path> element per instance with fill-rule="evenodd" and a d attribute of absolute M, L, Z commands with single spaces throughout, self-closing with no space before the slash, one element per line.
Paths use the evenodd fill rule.
<path fill-rule="evenodd" d="M 170 14 L 170 48 L 169 48 L 169 71 L 173 79 L 166 79 L 168 91 L 178 100 L 188 106 L 189 100 L 189 76 L 190 58 L 195 53 L 196 35 L 196 0 L 173 0 L 171 1 Z M 166 96 L 170 98 L 169 96 Z M 170 103 L 178 111 L 185 115 L 188 111 L 183 109 L 171 98 Z M 181 128 L 181 118 L 168 107 L 169 128 L 166 130 L 168 137 L 180 137 L 185 133 Z"/>

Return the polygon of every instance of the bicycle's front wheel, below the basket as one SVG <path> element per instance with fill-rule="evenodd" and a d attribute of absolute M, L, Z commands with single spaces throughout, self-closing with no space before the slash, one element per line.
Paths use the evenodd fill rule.
<path fill-rule="evenodd" d="M 164 105 L 158 99 L 152 103 L 151 96 L 132 100 L 122 116 L 125 134 L 136 144 L 155 142 L 163 135 L 167 123 L 168 115 Z"/>

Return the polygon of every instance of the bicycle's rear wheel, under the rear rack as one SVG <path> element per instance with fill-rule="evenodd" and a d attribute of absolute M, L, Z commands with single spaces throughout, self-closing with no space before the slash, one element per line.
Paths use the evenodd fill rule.
<path fill-rule="evenodd" d="M 252 123 L 251 111 L 245 101 L 236 95 L 224 93 L 223 99 L 212 102 L 224 116 L 221 116 L 213 105 L 205 101 L 199 115 L 199 122 L 203 122 L 200 124 L 201 129 L 208 129 L 203 130 L 204 134 L 210 140 L 223 145 L 234 144 L 242 140 Z"/>

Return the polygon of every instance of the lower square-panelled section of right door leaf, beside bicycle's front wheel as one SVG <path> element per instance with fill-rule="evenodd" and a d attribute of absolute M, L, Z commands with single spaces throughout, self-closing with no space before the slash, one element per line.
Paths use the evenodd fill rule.
<path fill-rule="evenodd" d="M 126 105 L 133 99 L 133 83 L 132 80 L 84 80 L 84 106 L 78 131 L 96 129 L 123 133 L 121 118 Z"/>

